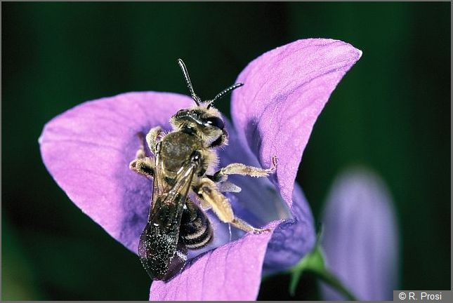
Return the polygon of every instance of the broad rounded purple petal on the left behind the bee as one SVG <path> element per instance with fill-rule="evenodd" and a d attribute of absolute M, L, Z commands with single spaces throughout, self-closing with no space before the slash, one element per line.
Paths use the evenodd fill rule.
<path fill-rule="evenodd" d="M 137 133 L 169 128 L 169 118 L 193 101 L 173 93 L 125 93 L 86 102 L 60 114 L 39 138 L 55 182 L 81 210 L 136 253 L 146 224 L 151 183 L 129 170 Z"/>

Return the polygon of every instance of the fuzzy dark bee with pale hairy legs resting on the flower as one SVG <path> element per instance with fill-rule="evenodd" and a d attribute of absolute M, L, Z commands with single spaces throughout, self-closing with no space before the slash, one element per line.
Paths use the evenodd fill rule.
<path fill-rule="evenodd" d="M 256 168 L 231 163 L 216 171 L 216 148 L 228 144 L 228 132 L 214 102 L 242 86 L 236 83 L 211 100 L 202 101 L 192 87 L 183 60 L 178 60 L 195 106 L 180 109 L 171 116 L 173 127 L 164 133 L 160 126 L 146 137 L 139 134 L 140 148 L 129 168 L 151 179 L 152 198 L 147 224 L 140 236 L 138 255 L 153 280 L 168 280 L 182 269 L 188 250 L 204 248 L 214 238 L 214 231 L 204 210 L 211 208 L 225 223 L 254 234 L 258 229 L 235 217 L 223 191 L 239 191 L 228 182 L 228 175 L 266 177 L 277 167 L 277 158 L 270 168 Z M 152 156 L 146 156 L 145 144 Z M 206 172 L 215 172 L 209 175 Z M 195 200 L 195 201 L 192 201 Z"/>

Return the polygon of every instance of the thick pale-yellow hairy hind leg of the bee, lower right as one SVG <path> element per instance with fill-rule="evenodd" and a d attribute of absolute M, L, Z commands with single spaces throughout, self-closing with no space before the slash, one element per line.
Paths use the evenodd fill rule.
<path fill-rule="evenodd" d="M 223 196 L 223 194 L 218 191 L 214 181 L 209 178 L 204 177 L 201 179 L 197 185 L 197 194 L 199 194 L 205 202 L 211 205 L 212 210 L 222 222 L 230 223 L 238 229 L 252 232 L 254 234 L 261 234 L 263 232 L 270 231 L 269 229 L 257 229 L 244 220 L 235 217 L 232 212 L 230 201 L 228 201 L 228 198 Z"/>

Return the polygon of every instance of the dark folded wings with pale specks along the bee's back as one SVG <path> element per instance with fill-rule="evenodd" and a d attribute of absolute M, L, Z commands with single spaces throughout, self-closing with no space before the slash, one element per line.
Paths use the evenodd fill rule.
<path fill-rule="evenodd" d="M 197 166 L 195 161 L 190 161 L 180 169 L 175 184 L 169 191 L 158 191 L 158 195 L 153 194 L 155 201 L 138 244 L 138 255 L 152 279 L 166 278 L 174 257 L 183 260 L 176 256 L 180 220 Z M 157 179 L 159 177 L 156 177 L 155 181 L 158 183 L 154 187 L 160 190 L 162 179 Z"/>

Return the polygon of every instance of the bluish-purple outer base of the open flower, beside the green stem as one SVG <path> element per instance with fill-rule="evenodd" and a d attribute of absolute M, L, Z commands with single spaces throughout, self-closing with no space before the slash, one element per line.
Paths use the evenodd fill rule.
<path fill-rule="evenodd" d="M 293 267 L 315 246 L 313 215 L 298 184 L 294 184 L 291 210 L 294 219 L 280 223 L 269 241 L 263 264 L 265 275 Z"/>

